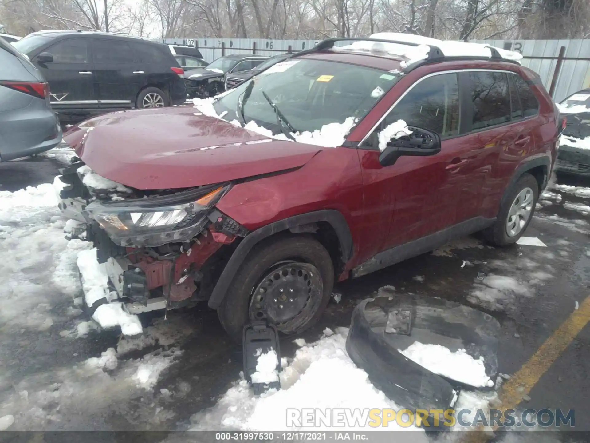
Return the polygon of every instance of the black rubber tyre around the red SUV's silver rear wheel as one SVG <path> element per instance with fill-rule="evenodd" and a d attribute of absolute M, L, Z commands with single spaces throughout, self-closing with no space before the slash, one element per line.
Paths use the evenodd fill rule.
<path fill-rule="evenodd" d="M 530 188 L 533 191 L 532 210 L 530 211 L 529 219 L 526 221 L 520 232 L 514 236 L 509 236 L 506 230 L 509 216 L 508 213 L 520 191 L 525 188 Z M 496 222 L 481 232 L 484 239 L 496 246 L 512 245 L 525 233 L 530 221 L 533 219 L 533 214 L 535 214 L 535 206 L 537 204 L 537 199 L 539 198 L 539 183 L 537 183 L 536 178 L 532 175 L 527 173 L 522 174 L 516 183 L 506 190 L 505 197 L 506 198 L 503 199 L 503 203 L 501 204 Z"/>

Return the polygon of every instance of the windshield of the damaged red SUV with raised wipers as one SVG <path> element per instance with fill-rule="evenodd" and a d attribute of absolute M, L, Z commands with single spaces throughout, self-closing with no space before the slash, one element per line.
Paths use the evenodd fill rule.
<path fill-rule="evenodd" d="M 362 119 L 395 83 L 396 76 L 378 69 L 324 60 L 295 59 L 277 63 L 252 80 L 240 84 L 215 102 L 224 119 L 242 121 L 281 132 L 270 101 L 297 132 L 322 129 L 329 123 Z M 251 87 L 247 96 L 248 85 Z M 243 94 L 243 96 L 242 96 Z M 267 97 L 265 97 L 265 95 Z M 243 123 L 243 121 L 242 121 Z"/>

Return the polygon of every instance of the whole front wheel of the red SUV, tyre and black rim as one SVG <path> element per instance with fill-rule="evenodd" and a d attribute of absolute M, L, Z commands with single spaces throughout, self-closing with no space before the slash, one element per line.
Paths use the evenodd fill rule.
<path fill-rule="evenodd" d="M 267 240 L 248 254 L 218 309 L 219 321 L 235 341 L 244 325 L 266 320 L 281 333 L 299 334 L 326 309 L 334 285 L 327 250 L 313 237 Z"/>

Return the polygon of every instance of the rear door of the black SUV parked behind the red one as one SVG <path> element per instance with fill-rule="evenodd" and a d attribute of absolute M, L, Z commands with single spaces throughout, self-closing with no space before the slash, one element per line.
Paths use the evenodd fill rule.
<path fill-rule="evenodd" d="M 146 73 L 135 61 L 130 43 L 124 40 L 91 40 L 100 108 L 131 108 Z"/>

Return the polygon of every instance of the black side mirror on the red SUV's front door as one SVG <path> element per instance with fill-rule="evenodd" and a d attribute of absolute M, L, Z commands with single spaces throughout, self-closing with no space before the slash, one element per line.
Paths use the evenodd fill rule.
<path fill-rule="evenodd" d="M 394 164 L 402 155 L 435 155 L 441 151 L 440 136 L 434 131 L 408 126 L 410 135 L 391 139 L 386 148 L 379 155 L 382 166 Z"/>

